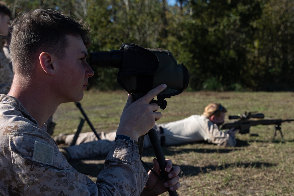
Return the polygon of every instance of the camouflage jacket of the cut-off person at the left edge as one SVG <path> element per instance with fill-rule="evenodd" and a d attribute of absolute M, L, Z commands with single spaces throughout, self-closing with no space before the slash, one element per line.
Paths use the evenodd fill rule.
<path fill-rule="evenodd" d="M 9 63 L 9 59 L 3 51 L 6 37 L 0 35 L 0 93 L 7 94 L 13 79 L 13 72 Z"/>

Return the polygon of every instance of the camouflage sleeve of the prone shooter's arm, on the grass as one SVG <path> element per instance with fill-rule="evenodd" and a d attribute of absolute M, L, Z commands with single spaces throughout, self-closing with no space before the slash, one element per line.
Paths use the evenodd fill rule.
<path fill-rule="evenodd" d="M 208 122 L 208 133 L 209 133 L 209 143 L 217 144 L 219 146 L 235 146 L 236 139 L 233 136 L 230 136 L 228 133 L 225 133 L 218 129 L 216 124 Z"/>

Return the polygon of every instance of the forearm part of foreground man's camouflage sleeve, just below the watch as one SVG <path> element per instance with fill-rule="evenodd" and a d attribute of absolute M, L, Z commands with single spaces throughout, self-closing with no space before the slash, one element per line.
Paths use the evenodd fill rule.
<path fill-rule="evenodd" d="M 138 145 L 117 140 L 105 160 L 105 168 L 97 177 L 97 186 L 101 195 L 140 195 L 147 180 Z"/>

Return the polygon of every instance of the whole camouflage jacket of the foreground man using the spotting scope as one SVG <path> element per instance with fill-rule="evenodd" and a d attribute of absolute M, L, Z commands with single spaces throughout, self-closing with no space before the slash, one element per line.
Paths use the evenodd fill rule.
<path fill-rule="evenodd" d="M 95 183 L 16 98 L 0 95 L 0 115 L 0 195 L 140 195 L 146 184 L 137 145 L 116 141 Z"/>

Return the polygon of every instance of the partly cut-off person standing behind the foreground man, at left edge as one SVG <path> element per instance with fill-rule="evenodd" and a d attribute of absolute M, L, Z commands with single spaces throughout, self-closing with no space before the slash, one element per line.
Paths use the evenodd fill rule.
<path fill-rule="evenodd" d="M 11 11 L 0 1 L 0 94 L 9 92 L 13 79 L 10 59 L 3 51 L 5 43 L 9 41 L 10 21 Z"/>

